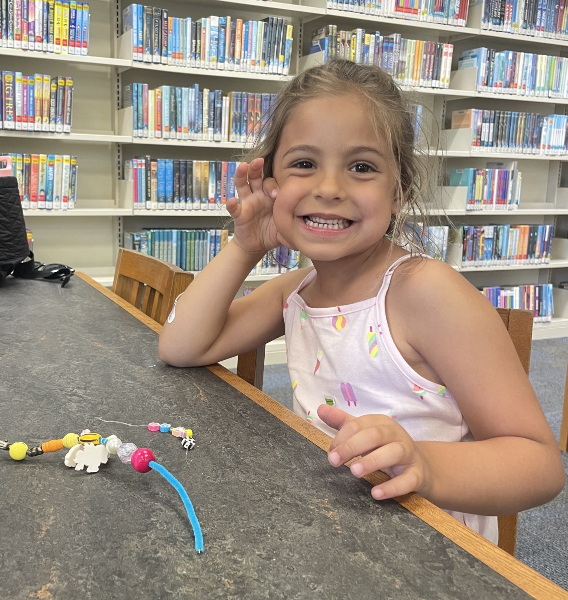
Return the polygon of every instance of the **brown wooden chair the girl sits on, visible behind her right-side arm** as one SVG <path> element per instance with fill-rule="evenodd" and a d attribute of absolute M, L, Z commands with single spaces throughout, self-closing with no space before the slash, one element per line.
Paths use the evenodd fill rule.
<path fill-rule="evenodd" d="M 533 313 L 515 308 L 497 308 L 497 312 L 509 332 L 513 346 L 519 355 L 522 367 L 528 375 L 531 359 L 531 343 L 533 340 Z M 500 515 L 498 546 L 515 556 L 518 514 Z"/>

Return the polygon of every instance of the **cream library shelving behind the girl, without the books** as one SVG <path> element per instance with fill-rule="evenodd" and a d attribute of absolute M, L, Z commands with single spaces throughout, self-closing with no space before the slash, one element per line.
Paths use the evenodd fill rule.
<path fill-rule="evenodd" d="M 223 209 L 217 211 L 149 211 L 133 208 L 128 186 L 121 181 L 124 161 L 139 155 L 153 158 L 193 160 L 239 160 L 244 144 L 200 142 L 134 137 L 132 109 L 122 108 L 124 86 L 133 82 L 188 86 L 199 83 L 210 89 L 275 93 L 287 76 L 241 73 L 206 68 L 167 66 L 134 61 L 130 32 L 122 33 L 122 10 L 130 0 L 91 0 L 91 32 L 88 56 L 0 47 L 2 69 L 74 78 L 73 127 L 71 134 L 31 133 L 0 130 L 0 152 L 59 152 L 77 156 L 79 187 L 72 211 L 26 210 L 26 224 L 34 233 L 35 254 L 43 262 L 66 262 L 85 271 L 101 283 L 112 283 L 118 248 L 125 231 L 143 227 L 221 227 L 229 221 Z M 430 109 L 438 121 L 449 127 L 453 110 L 464 108 L 526 110 L 543 114 L 566 112 L 560 98 L 521 97 L 479 92 L 474 70 L 457 71 L 462 50 L 479 46 L 515 49 L 523 52 L 565 55 L 568 40 L 529 37 L 482 29 L 479 5 L 471 5 L 467 26 L 416 22 L 379 17 L 326 7 L 326 0 L 265 2 L 263 0 L 206 0 L 191 4 L 156 0 L 170 16 L 199 19 L 211 14 L 232 18 L 263 19 L 286 17 L 293 25 L 290 76 L 317 57 L 307 53 L 311 32 L 327 24 L 342 29 L 356 27 L 381 34 L 443 41 L 454 45 L 453 71 L 447 89 L 403 88 Z M 440 188 L 444 218 L 461 224 L 554 224 L 556 238 L 552 257 L 542 265 L 461 267 L 458 245 L 449 247 L 448 261 L 477 287 L 517 284 L 554 284 L 555 311 L 552 322 L 535 323 L 534 338 L 568 336 L 568 290 L 558 287 L 568 281 L 568 155 L 547 156 L 480 152 L 471 148 L 471 130 L 444 130 L 437 154 L 445 167 L 485 166 L 491 160 L 517 160 L 523 175 L 521 202 L 516 211 L 467 211 L 459 190 Z M 439 206 L 439 205 L 437 205 Z M 564 239 L 562 239 L 564 238 Z M 257 275 L 246 285 L 257 285 L 274 275 Z M 267 348 L 266 363 L 285 361 L 284 341 Z M 231 363 L 228 363 L 231 365 Z"/>

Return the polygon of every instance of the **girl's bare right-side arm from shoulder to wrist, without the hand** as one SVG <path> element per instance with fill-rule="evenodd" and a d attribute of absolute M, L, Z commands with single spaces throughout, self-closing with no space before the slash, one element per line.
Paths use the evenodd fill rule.
<path fill-rule="evenodd" d="M 564 485 L 560 452 L 500 316 L 449 266 L 424 266 L 408 278 L 411 343 L 452 391 L 475 441 L 419 442 L 431 472 L 423 495 L 492 515 L 548 502 Z"/>

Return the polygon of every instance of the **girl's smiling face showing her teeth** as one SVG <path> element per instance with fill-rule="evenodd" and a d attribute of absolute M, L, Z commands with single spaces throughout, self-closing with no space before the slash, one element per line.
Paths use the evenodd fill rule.
<path fill-rule="evenodd" d="M 294 110 L 273 168 L 274 221 L 291 247 L 327 261 L 382 245 L 396 212 L 385 148 L 366 102 L 354 95 L 314 98 Z"/>

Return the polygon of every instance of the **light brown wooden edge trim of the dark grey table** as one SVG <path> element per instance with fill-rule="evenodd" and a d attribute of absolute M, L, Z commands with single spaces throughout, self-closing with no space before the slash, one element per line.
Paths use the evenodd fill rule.
<path fill-rule="evenodd" d="M 115 302 L 115 304 L 124 308 L 124 310 L 136 317 L 136 319 L 140 320 L 152 329 L 152 331 L 160 334 L 162 326 L 146 316 L 142 311 L 134 308 L 127 301 L 120 298 L 120 296 L 117 296 L 110 289 L 93 280 L 85 273 L 77 272 L 76 276 Z M 229 383 L 230 386 L 250 398 L 250 400 L 253 400 L 253 402 L 259 404 L 259 406 L 262 406 L 263 409 L 268 410 L 269 413 L 274 415 L 277 419 L 280 419 L 280 421 L 283 421 L 294 431 L 297 431 L 297 433 L 305 437 L 309 442 L 314 443 L 316 446 L 327 452 L 331 438 L 322 431 L 318 430 L 313 425 L 310 425 L 295 413 L 291 412 L 291 410 L 288 410 L 285 406 L 280 404 L 277 400 L 267 396 L 264 392 L 260 391 L 260 389 L 255 388 L 225 367 L 215 364 L 209 365 L 207 368 L 211 373 L 214 373 L 216 376 Z M 373 485 L 385 481 L 386 478 L 387 476 L 381 472 L 371 473 L 371 475 L 365 477 L 365 479 Z M 450 515 L 442 509 L 433 505 L 423 497 L 418 496 L 418 494 L 406 494 L 405 496 L 395 498 L 395 500 L 422 521 L 425 521 L 431 527 L 434 527 L 434 529 L 442 533 L 460 548 L 463 548 L 472 556 L 476 557 L 477 560 L 480 560 L 480 562 L 484 563 L 498 574 L 503 575 L 503 577 L 524 590 L 524 592 L 533 596 L 533 598 L 536 598 L 537 600 L 568 600 L 568 592 L 561 587 L 552 583 L 552 581 L 544 577 L 544 575 L 534 571 L 534 569 L 531 569 L 529 566 L 524 565 L 524 563 L 521 563 L 519 560 L 515 559 L 515 557 L 510 556 L 510 554 L 501 550 L 501 548 L 491 544 L 487 539 L 480 536 L 479 533 L 465 527 L 456 521 L 455 518 L 450 517 Z"/>

